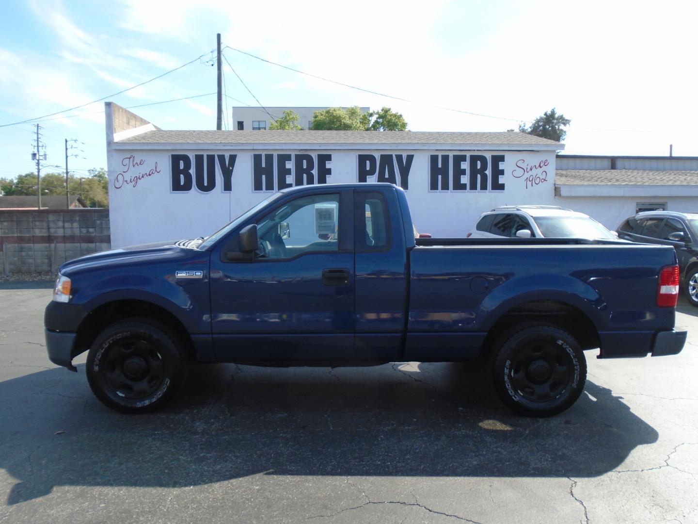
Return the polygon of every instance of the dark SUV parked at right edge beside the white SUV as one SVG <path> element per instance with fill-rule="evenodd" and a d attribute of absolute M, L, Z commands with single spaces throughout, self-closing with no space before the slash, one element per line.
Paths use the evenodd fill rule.
<path fill-rule="evenodd" d="M 674 246 L 688 302 L 698 306 L 698 213 L 646 211 L 625 220 L 618 238 Z"/>

